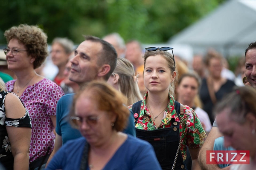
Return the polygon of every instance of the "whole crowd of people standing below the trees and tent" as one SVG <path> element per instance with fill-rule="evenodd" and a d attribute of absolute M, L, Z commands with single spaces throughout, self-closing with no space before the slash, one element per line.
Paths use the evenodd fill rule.
<path fill-rule="evenodd" d="M 84 36 L 75 48 L 56 37 L 50 51 L 38 26 L 4 36 L 14 73 L 0 79 L 6 170 L 256 168 L 256 42 L 233 76 L 214 49 L 195 55 L 191 69 L 172 47 L 143 51 L 118 33 Z M 52 80 L 42 71 L 48 55 L 58 67 Z M 217 146 L 249 150 L 250 164 L 207 164 Z"/>

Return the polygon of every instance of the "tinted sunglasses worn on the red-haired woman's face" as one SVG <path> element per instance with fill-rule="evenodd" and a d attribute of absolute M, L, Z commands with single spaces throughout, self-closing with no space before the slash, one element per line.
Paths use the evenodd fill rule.
<path fill-rule="evenodd" d="M 71 116 L 71 121 L 77 126 L 80 127 L 83 123 L 83 120 L 85 119 L 85 122 L 90 126 L 95 126 L 98 122 L 98 120 L 102 117 L 102 115 L 99 116 L 88 116 L 85 118 L 80 118 L 78 116 Z"/>

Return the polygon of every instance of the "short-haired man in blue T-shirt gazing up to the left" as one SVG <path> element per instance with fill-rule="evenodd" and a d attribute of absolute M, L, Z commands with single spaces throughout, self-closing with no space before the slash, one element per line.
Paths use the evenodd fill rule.
<path fill-rule="evenodd" d="M 116 50 L 110 43 L 98 37 L 86 36 L 75 50 L 74 55 L 70 60 L 72 66 L 69 79 L 79 84 L 80 88 L 93 80 L 107 81 L 116 68 Z M 70 139 L 81 137 L 79 130 L 72 128 L 67 120 L 73 103 L 73 95 L 64 95 L 58 101 L 55 146 L 47 164 L 63 144 Z M 125 133 L 135 136 L 133 113 L 130 114 Z"/>

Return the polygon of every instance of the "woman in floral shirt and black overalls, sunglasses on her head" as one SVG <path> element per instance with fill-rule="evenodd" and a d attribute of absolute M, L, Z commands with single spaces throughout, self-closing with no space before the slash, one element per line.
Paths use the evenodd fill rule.
<path fill-rule="evenodd" d="M 206 133 L 194 110 L 174 100 L 177 71 L 173 53 L 167 52 L 170 49 L 146 48 L 143 76 L 148 92 L 129 108 L 136 119 L 137 137 L 152 144 L 163 170 L 186 169 L 186 145 L 192 170 L 198 170 L 198 153 Z"/>

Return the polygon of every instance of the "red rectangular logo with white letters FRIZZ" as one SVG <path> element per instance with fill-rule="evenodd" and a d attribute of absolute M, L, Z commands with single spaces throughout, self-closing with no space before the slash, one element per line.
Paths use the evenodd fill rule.
<path fill-rule="evenodd" d="M 207 164 L 250 164 L 249 150 L 207 150 Z"/>

